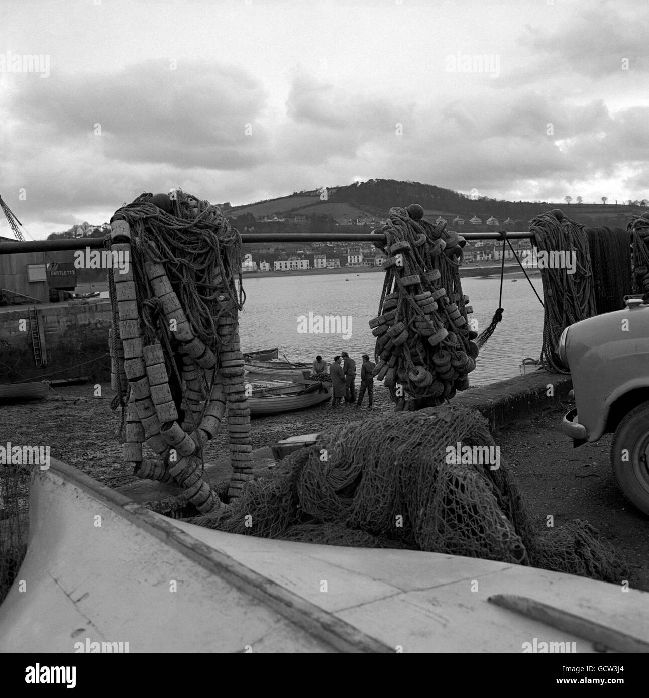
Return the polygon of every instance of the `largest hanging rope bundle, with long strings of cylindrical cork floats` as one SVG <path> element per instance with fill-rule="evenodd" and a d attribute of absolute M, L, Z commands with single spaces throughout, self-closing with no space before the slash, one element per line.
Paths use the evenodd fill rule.
<path fill-rule="evenodd" d="M 218 207 L 179 189 L 119 209 L 109 237 L 111 384 L 126 407 L 124 462 L 138 477 L 180 485 L 201 512 L 223 510 L 203 478 L 203 447 L 226 406 L 231 501 L 252 477 L 240 235 Z M 143 443 L 157 459 L 143 458 Z"/>

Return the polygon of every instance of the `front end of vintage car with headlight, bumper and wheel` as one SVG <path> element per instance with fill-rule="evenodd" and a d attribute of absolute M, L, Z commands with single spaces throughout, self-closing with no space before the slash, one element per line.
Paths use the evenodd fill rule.
<path fill-rule="evenodd" d="M 576 408 L 562 429 L 574 447 L 614 433 L 615 477 L 649 514 L 649 304 L 642 296 L 627 296 L 625 304 L 564 329 L 557 353 L 570 369 Z"/>

